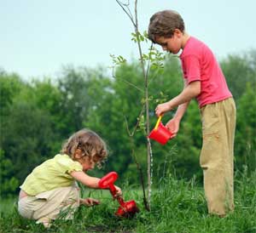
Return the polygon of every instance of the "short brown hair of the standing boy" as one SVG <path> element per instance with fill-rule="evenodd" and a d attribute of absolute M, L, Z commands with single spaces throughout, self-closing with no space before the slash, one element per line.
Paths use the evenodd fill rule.
<path fill-rule="evenodd" d="M 148 26 L 148 38 L 155 43 L 155 37 L 172 37 L 175 29 L 185 30 L 184 21 L 174 10 L 163 10 L 153 14 Z"/>

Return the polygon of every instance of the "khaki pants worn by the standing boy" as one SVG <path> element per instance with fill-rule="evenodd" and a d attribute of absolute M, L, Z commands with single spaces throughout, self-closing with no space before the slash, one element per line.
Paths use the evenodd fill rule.
<path fill-rule="evenodd" d="M 203 144 L 200 164 L 208 212 L 224 215 L 234 209 L 234 99 L 203 106 L 201 122 Z"/>

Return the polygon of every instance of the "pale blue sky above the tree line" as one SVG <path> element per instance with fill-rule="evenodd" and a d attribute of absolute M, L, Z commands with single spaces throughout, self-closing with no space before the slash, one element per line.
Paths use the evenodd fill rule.
<path fill-rule="evenodd" d="M 182 14 L 218 60 L 256 48 L 256 1 L 138 0 L 139 30 L 163 9 Z M 62 65 L 108 67 L 109 54 L 137 58 L 133 26 L 114 0 L 0 0 L 0 17 L 0 67 L 26 80 L 56 77 Z"/>

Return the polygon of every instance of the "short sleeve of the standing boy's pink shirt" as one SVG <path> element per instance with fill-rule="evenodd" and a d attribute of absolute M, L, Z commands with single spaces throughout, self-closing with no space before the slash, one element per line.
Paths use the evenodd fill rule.
<path fill-rule="evenodd" d="M 183 76 L 189 82 L 201 81 L 200 61 L 195 55 L 183 57 Z"/>

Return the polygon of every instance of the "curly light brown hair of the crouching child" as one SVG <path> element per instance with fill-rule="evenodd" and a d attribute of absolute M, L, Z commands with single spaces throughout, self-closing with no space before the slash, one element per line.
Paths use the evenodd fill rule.
<path fill-rule="evenodd" d="M 91 161 L 96 162 L 98 168 L 102 168 L 102 162 L 108 156 L 107 145 L 103 139 L 87 128 L 79 130 L 67 139 L 62 145 L 61 154 L 66 154 L 74 160 L 77 149 L 82 151 L 83 156 L 88 156 Z"/>

